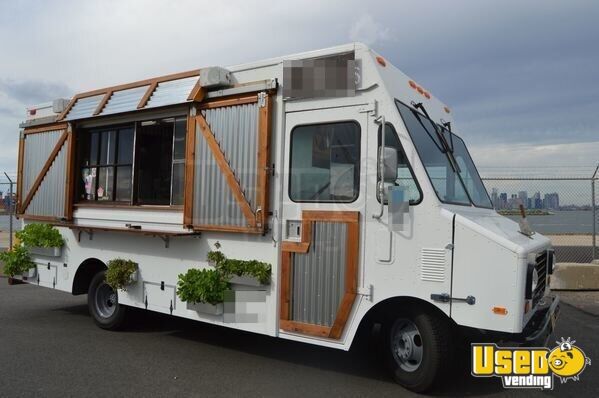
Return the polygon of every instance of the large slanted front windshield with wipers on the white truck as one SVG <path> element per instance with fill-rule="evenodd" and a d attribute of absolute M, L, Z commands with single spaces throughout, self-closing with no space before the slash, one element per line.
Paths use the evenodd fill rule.
<path fill-rule="evenodd" d="M 440 126 L 435 130 L 433 122 L 416 110 L 397 100 L 396 104 L 439 200 L 492 207 L 464 141 Z"/>

